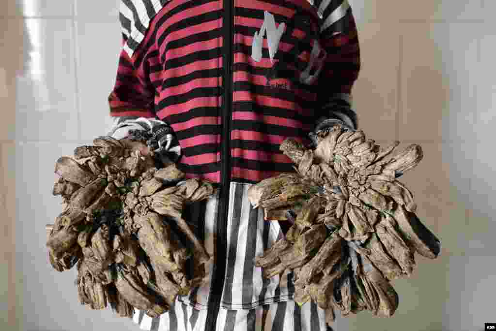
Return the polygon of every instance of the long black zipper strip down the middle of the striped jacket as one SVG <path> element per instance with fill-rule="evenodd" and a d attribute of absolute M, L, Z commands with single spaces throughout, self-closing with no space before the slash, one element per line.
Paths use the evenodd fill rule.
<path fill-rule="evenodd" d="M 223 43 L 224 43 L 224 97 L 222 112 L 222 135 L 221 142 L 221 186 L 220 186 L 220 203 L 217 217 L 217 237 L 214 241 L 214 266 L 212 283 L 210 285 L 210 294 L 208 302 L 207 318 L 205 321 L 205 331 L 214 331 L 217 325 L 217 315 L 219 314 L 220 300 L 224 287 L 224 275 L 226 272 L 227 260 L 227 217 L 229 206 L 229 189 L 231 178 L 231 104 L 233 89 L 233 29 L 234 29 L 234 0 L 224 1 L 223 17 Z"/>

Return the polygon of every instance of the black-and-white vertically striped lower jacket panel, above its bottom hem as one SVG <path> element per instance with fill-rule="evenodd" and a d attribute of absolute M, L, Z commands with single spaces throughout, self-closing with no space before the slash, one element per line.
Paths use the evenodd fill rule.
<path fill-rule="evenodd" d="M 178 301 L 198 310 L 207 310 L 210 297 L 218 295 L 220 307 L 230 310 L 253 309 L 273 302 L 291 300 L 295 292 L 293 272 L 263 277 L 263 268 L 254 265 L 254 260 L 280 238 L 283 233 L 279 222 L 264 219 L 261 208 L 253 208 L 248 200 L 248 189 L 253 184 L 231 183 L 229 186 L 229 208 L 226 215 L 226 238 L 224 261 L 214 259 L 206 265 L 204 284 L 188 294 L 178 296 Z M 219 250 L 217 228 L 222 224 L 218 213 L 221 196 L 216 194 L 206 201 L 189 206 L 184 218 L 195 224 L 196 235 L 201 238 L 206 252 L 213 258 Z M 217 245 L 217 247 L 215 247 Z M 212 289 L 214 264 L 225 263 L 223 286 Z M 214 290 L 215 292 L 211 292 Z"/>

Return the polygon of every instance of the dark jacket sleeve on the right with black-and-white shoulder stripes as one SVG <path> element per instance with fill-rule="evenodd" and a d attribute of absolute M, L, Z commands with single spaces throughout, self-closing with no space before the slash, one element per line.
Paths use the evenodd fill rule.
<path fill-rule="evenodd" d="M 318 114 L 314 131 L 344 124 L 358 129 L 351 90 L 360 71 L 358 31 L 348 0 L 319 1 L 319 40 L 327 53 L 317 82 Z"/>

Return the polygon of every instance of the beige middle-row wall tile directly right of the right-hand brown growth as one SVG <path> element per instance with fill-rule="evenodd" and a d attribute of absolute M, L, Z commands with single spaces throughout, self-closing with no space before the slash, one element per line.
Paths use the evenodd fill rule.
<path fill-rule="evenodd" d="M 409 143 L 401 143 L 395 153 Z M 441 242 L 441 254 L 461 255 L 469 248 L 466 234 L 470 161 L 460 157 L 467 144 L 419 143 L 424 158 L 398 179 L 413 194 L 416 215 Z"/>

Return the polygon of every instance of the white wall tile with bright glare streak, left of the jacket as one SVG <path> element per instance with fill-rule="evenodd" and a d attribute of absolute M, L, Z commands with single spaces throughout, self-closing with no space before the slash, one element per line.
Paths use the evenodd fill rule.
<path fill-rule="evenodd" d="M 71 20 L 24 20 L 23 69 L 16 77 L 16 125 L 10 139 L 77 139 Z"/>

